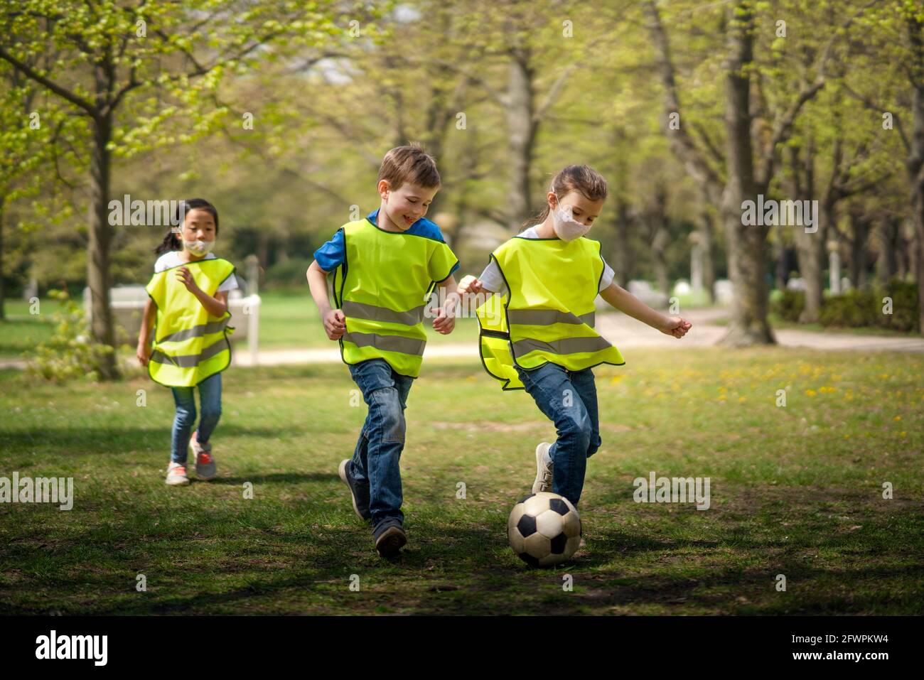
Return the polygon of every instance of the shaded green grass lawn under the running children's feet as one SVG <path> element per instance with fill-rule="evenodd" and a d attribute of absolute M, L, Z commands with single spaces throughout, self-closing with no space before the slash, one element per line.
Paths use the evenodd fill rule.
<path fill-rule="evenodd" d="M 172 399 L 140 371 L 67 387 L 0 371 L 0 476 L 75 484 L 69 512 L 0 504 L 0 613 L 924 613 L 924 357 L 626 361 L 596 370 L 587 545 L 553 570 L 523 565 L 505 537 L 553 427 L 477 363 L 426 363 L 410 393 L 395 562 L 336 476 L 365 416 L 340 364 L 228 370 L 219 477 L 185 488 L 163 480 Z M 709 477 L 711 508 L 636 504 L 632 480 L 652 470 Z"/>

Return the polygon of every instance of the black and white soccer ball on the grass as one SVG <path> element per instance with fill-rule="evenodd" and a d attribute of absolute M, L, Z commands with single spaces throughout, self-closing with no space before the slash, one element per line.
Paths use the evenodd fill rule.
<path fill-rule="evenodd" d="M 557 493 L 530 493 L 514 505 L 507 520 L 510 547 L 530 566 L 565 562 L 577 551 L 580 535 L 575 506 Z"/>

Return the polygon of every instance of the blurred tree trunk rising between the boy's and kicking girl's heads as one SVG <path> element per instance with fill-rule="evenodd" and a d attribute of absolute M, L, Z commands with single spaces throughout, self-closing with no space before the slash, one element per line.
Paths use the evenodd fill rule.
<path fill-rule="evenodd" d="M 526 57 L 514 53 L 507 73 L 507 145 L 511 172 L 508 226 L 516 233 L 529 219 L 529 168 L 534 137 L 532 71 Z"/>

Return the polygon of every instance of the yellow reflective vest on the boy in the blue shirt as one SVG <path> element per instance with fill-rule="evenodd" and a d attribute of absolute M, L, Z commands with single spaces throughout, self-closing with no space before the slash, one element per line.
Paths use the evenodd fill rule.
<path fill-rule="evenodd" d="M 395 372 L 418 377 L 427 299 L 452 273 L 456 256 L 444 241 L 385 231 L 368 218 L 340 228 L 344 262 L 334 270 L 334 303 L 346 316 L 340 356 L 347 364 L 383 358 Z"/>

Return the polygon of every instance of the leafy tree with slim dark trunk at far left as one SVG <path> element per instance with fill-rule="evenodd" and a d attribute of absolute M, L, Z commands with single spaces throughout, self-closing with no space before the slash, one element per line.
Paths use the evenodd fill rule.
<path fill-rule="evenodd" d="M 332 30 L 315 5 L 237 0 L 184 5 L 22 0 L 0 6 L 0 59 L 69 104 L 88 124 L 91 331 L 109 346 L 115 346 L 108 212 L 116 152 L 130 155 L 174 141 L 161 132 L 172 118 L 182 130 L 180 140 L 203 134 L 223 114 L 209 109 L 203 94 L 217 87 L 226 70 L 246 67 L 270 42 Z M 54 64 L 30 64 L 30 55 L 52 49 L 60 51 Z M 147 99 L 141 99 L 142 92 Z M 120 117 L 129 103 L 134 107 Z M 182 112 L 176 103 L 185 104 Z M 102 375 L 118 376 L 115 353 Z"/>

